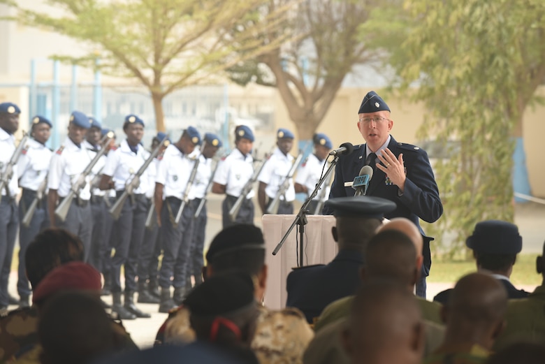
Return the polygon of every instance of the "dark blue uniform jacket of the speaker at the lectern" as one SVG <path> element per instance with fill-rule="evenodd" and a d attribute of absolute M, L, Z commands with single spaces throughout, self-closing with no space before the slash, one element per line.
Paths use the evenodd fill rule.
<path fill-rule="evenodd" d="M 344 182 L 353 181 L 354 177 L 359 175 L 363 166 L 365 166 L 365 144 L 354 147 L 354 152 L 343 155 L 335 167 L 335 180 L 331 186 L 329 198 L 354 196 L 355 190 L 352 187 L 344 187 Z M 395 184 L 386 183 L 386 174 L 377 168 L 373 173 L 367 195 L 386 198 L 393 201 L 397 206 L 392 212 L 385 215 L 386 219 L 393 217 L 405 217 L 419 227 L 424 236 L 423 256 L 424 265 L 430 268 L 430 240 L 424 234 L 419 218 L 427 222 L 435 222 L 443 214 L 443 205 L 439 198 L 439 189 L 435 183 L 433 170 L 430 166 L 430 160 L 426 151 L 421 150 L 411 144 L 398 143 L 393 136 L 388 149 L 395 156 L 403 154 L 403 162 L 407 180 L 405 182 L 405 191 L 402 196 L 398 196 L 398 187 Z M 333 210 L 324 208 L 324 214 L 333 214 Z"/>

